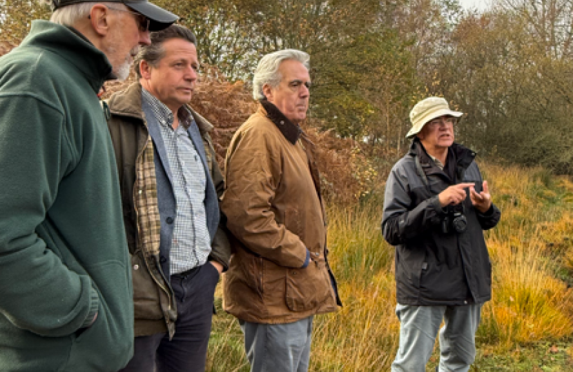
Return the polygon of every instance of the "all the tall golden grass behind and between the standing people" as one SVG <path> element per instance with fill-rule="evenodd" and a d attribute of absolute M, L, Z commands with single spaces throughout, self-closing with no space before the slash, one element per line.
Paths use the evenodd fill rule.
<path fill-rule="evenodd" d="M 486 233 L 493 299 L 470 371 L 573 371 L 573 182 L 543 169 L 485 165 L 483 173 L 502 220 Z M 375 197 L 329 205 L 329 259 L 344 307 L 315 318 L 311 371 L 389 371 L 400 325 L 381 216 Z M 249 371 L 238 323 L 216 297 L 207 371 Z M 436 350 L 428 371 L 438 359 Z"/>

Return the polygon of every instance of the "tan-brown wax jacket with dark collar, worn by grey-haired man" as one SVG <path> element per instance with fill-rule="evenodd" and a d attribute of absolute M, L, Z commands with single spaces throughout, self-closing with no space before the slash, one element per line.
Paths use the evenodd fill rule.
<path fill-rule="evenodd" d="M 271 103 L 233 136 L 226 185 L 221 208 L 235 239 L 225 311 L 267 324 L 336 311 L 315 148 Z"/>

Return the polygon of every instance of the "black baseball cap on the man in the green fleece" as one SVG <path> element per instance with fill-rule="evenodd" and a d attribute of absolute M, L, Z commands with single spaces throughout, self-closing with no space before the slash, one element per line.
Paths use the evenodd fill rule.
<path fill-rule="evenodd" d="M 52 10 L 79 3 L 93 3 L 93 0 L 52 0 Z M 172 12 L 164 8 L 159 8 L 159 6 L 147 0 L 104 0 L 101 1 L 101 3 L 122 3 L 124 6 L 143 14 L 149 19 L 150 31 L 160 31 L 164 28 L 168 28 L 171 23 L 179 19 L 179 17 Z"/>

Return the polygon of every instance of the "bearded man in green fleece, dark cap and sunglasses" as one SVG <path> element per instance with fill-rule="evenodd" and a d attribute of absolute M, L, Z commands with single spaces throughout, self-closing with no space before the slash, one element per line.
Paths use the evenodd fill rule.
<path fill-rule="evenodd" d="M 113 372 L 133 304 L 97 93 L 177 17 L 146 0 L 53 7 L 0 58 L 0 371 Z"/>

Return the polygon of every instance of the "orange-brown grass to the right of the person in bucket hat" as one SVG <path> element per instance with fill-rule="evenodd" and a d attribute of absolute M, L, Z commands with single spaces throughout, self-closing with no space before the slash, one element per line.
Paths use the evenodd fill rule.
<path fill-rule="evenodd" d="M 483 309 L 480 340 L 509 349 L 571 335 L 572 293 L 556 273 L 572 252 L 573 184 L 543 169 L 490 165 L 485 174 L 503 214 L 487 234 L 493 298 Z"/>

